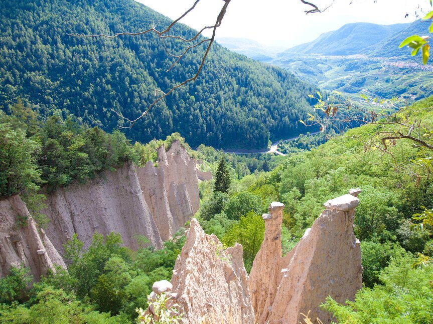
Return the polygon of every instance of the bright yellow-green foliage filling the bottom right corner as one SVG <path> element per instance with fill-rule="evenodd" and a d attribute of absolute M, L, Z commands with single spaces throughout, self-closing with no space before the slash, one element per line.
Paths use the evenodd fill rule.
<path fill-rule="evenodd" d="M 347 305 L 328 297 L 322 307 L 339 323 L 431 323 L 433 266 L 412 268 L 413 262 L 410 253 L 400 252 L 380 272 L 383 285 L 359 290 Z"/>

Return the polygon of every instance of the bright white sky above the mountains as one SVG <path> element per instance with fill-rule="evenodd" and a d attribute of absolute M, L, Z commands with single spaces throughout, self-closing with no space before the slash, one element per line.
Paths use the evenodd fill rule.
<path fill-rule="evenodd" d="M 135 1 L 171 19 L 178 18 L 194 4 L 194 0 Z M 321 9 L 332 2 L 309 1 Z M 181 23 L 196 30 L 213 25 L 222 6 L 222 0 L 201 0 Z M 232 0 L 216 36 L 248 38 L 267 46 L 289 48 L 313 41 L 320 34 L 348 23 L 411 23 L 415 12 L 422 17 L 421 9 L 424 13 L 431 10 L 428 0 L 376 0 L 376 3 L 374 0 L 335 0 L 324 13 L 305 15 L 304 11 L 310 8 L 300 0 Z M 405 19 L 406 13 L 409 17 Z"/>

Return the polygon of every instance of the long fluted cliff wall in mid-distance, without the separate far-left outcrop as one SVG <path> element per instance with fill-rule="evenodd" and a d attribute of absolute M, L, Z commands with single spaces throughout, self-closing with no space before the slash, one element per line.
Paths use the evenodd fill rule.
<path fill-rule="evenodd" d="M 77 233 L 88 247 L 95 231 L 120 233 L 123 243 L 137 248 L 135 234 L 156 248 L 169 239 L 199 209 L 196 162 L 175 141 L 158 151 L 159 167 L 128 163 L 105 171 L 85 184 L 73 184 L 47 194 L 47 234 L 58 251 Z"/>

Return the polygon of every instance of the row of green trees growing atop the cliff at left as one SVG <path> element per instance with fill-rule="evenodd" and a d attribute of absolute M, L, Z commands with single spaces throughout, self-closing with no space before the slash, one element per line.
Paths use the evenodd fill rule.
<path fill-rule="evenodd" d="M 1 196 L 35 192 L 45 184 L 52 189 L 85 182 L 137 156 L 119 131 L 107 134 L 59 114 L 43 123 L 33 107 L 20 101 L 11 112 L 0 112 Z"/>

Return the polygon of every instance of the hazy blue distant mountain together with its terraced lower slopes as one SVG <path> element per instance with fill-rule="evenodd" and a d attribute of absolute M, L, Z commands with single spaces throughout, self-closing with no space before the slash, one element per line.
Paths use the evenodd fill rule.
<path fill-rule="evenodd" d="M 338 91 L 355 101 L 369 97 L 412 102 L 433 95 L 433 67 L 422 65 L 399 44 L 428 34 L 428 24 L 348 24 L 313 42 L 278 53 L 270 64 L 292 71 L 322 90 Z M 431 62 L 431 61 L 430 61 Z"/>

